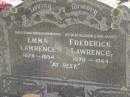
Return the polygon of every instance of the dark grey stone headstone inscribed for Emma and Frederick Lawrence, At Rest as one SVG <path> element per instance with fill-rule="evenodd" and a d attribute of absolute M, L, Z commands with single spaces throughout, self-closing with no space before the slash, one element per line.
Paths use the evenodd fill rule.
<path fill-rule="evenodd" d="M 122 11 L 117 25 L 113 9 L 95 0 L 27 0 L 10 10 L 1 12 L 8 75 L 47 83 L 49 97 L 108 97 L 114 87 L 127 87 Z"/>

